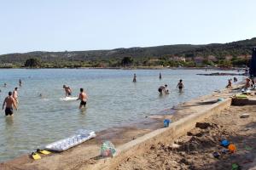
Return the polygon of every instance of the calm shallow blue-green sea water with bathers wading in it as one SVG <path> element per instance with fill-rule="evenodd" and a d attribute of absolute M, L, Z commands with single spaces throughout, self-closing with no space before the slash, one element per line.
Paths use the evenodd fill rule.
<path fill-rule="evenodd" d="M 159 72 L 162 79 L 159 79 Z M 207 71 L 207 73 L 216 71 Z M 222 71 L 224 72 L 224 71 Z M 230 72 L 230 71 L 229 71 Z M 132 82 L 133 74 L 137 82 Z M 19 110 L 15 115 L 0 115 L 0 161 L 29 153 L 44 144 L 66 138 L 79 128 L 100 131 L 108 127 L 134 122 L 180 102 L 222 89 L 231 77 L 204 77 L 201 70 L 90 70 L 90 69 L 13 69 L 0 71 L 0 100 L 18 86 Z M 178 80 L 184 92 L 178 93 Z M 6 82 L 7 88 L 2 88 Z M 158 87 L 168 84 L 171 94 L 160 96 Z M 73 95 L 84 88 L 89 96 L 85 111 L 79 101 L 61 101 L 63 84 Z M 38 95 L 43 94 L 44 98 Z"/>

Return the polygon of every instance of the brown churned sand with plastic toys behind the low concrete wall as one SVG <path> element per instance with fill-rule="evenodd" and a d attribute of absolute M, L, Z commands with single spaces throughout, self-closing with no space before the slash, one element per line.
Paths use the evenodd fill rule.
<path fill-rule="evenodd" d="M 250 114 L 240 118 L 241 114 Z M 128 157 L 116 169 L 241 169 L 256 166 L 256 105 L 231 106 L 207 118 L 174 144 L 151 145 L 143 154 Z M 222 139 L 236 145 L 236 152 L 222 153 Z M 212 156 L 219 153 L 219 158 Z M 254 167 L 256 168 L 256 167 Z"/>

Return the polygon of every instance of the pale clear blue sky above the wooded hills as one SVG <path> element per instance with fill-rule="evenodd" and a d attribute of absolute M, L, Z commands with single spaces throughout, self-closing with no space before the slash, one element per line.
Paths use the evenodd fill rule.
<path fill-rule="evenodd" d="M 234 42 L 255 0 L 0 0 L 0 54 Z"/>

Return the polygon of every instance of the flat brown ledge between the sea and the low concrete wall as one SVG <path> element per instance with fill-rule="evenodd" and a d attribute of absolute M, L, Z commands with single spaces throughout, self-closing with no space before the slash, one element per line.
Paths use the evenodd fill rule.
<path fill-rule="evenodd" d="M 225 89 L 222 92 L 202 96 L 201 98 L 177 105 L 170 110 L 164 111 L 160 115 L 145 117 L 140 122 L 136 122 L 130 126 L 113 127 L 96 133 L 96 139 L 91 139 L 90 141 L 85 142 L 84 144 L 79 144 L 67 151 L 52 153 L 49 156 L 42 156 L 43 158 L 38 161 L 32 160 L 29 155 L 20 156 L 14 160 L 1 163 L 0 169 L 86 169 L 86 165 L 95 164 L 97 162 L 100 153 L 100 145 L 103 140 L 110 140 L 116 147 L 118 147 L 121 144 L 125 144 L 133 139 L 143 136 L 146 133 L 163 127 L 163 120 L 165 118 L 172 119 L 172 122 L 175 122 L 184 116 L 206 109 L 209 105 L 216 103 L 217 99 L 220 97 L 230 98 L 230 96 L 235 93 L 236 91 Z M 173 113 L 173 111 L 175 112 Z M 157 148 L 158 146 L 154 147 Z M 144 162 L 144 158 L 141 158 L 142 160 L 140 161 Z M 127 163 L 129 162 L 130 161 L 127 161 Z M 143 165 L 141 162 L 139 162 L 139 164 Z M 127 166 L 129 167 L 128 164 Z M 118 168 L 122 169 L 126 167 Z M 132 169 L 133 167 L 129 168 Z"/>

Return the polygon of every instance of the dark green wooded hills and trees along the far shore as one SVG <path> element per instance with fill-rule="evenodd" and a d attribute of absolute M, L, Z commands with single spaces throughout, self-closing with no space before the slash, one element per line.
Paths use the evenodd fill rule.
<path fill-rule="evenodd" d="M 223 68 L 250 63 L 252 39 L 205 45 L 177 44 L 148 48 L 44 52 L 0 55 L 0 68 Z"/>

